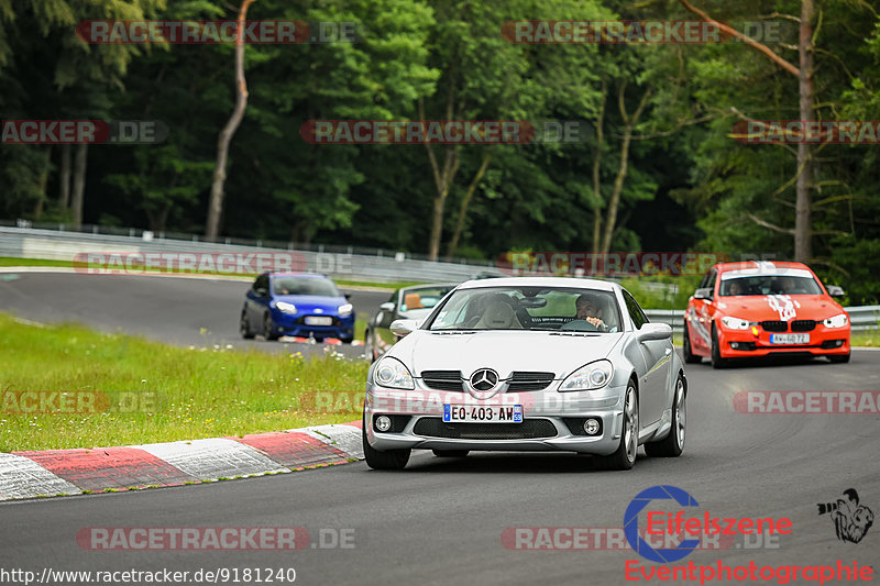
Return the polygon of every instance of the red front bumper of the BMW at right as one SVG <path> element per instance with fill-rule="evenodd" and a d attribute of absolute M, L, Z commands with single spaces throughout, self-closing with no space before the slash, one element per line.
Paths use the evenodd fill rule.
<path fill-rule="evenodd" d="M 721 328 L 718 330 L 718 345 L 723 358 L 734 357 L 758 357 L 771 354 L 812 354 L 815 356 L 839 356 L 850 352 L 849 346 L 849 324 L 845 328 L 826 328 L 817 324 L 814 330 L 809 332 L 780 332 L 780 333 L 805 333 L 810 334 L 810 342 L 806 344 L 774 344 L 770 342 L 770 336 L 777 332 L 767 332 L 757 327 L 756 335 L 749 330 L 730 330 Z"/>

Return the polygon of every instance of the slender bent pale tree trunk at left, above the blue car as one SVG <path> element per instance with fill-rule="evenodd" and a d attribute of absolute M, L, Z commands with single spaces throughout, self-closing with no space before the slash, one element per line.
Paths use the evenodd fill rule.
<path fill-rule="evenodd" d="M 227 125 L 220 131 L 217 139 L 217 165 L 213 169 L 213 180 L 211 181 L 211 199 L 208 203 L 208 222 L 205 228 L 205 236 L 208 240 L 216 240 L 220 233 L 220 217 L 223 213 L 223 185 L 227 180 L 227 159 L 229 157 L 229 143 L 232 135 L 244 118 L 244 109 L 248 107 L 248 85 L 244 81 L 244 21 L 248 16 L 248 8 L 254 0 L 243 0 L 239 10 L 238 38 L 235 40 L 235 108 L 229 117 Z"/>

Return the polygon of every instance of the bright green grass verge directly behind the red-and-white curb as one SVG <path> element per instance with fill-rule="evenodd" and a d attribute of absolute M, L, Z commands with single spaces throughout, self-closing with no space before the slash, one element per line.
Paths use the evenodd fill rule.
<path fill-rule="evenodd" d="M 298 353 L 180 349 L 0 314 L 0 452 L 243 435 L 356 420 L 353 408 L 326 414 L 308 400 L 310 391 L 356 396 L 364 388 L 369 364 L 324 347 L 323 356 L 311 360 Z M 109 405 L 124 397 L 134 407 L 11 412 L 18 403 L 8 402 L 10 391 L 24 390 L 101 391 Z"/>

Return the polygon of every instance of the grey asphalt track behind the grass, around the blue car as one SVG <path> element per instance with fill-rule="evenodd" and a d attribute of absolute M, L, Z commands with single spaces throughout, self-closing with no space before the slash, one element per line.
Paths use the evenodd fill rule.
<path fill-rule="evenodd" d="M 146 277 L 53 273 L 0 274 L 0 311 L 41 322 L 77 321 L 99 330 L 136 333 L 169 344 L 266 352 L 304 352 L 321 344 L 243 340 L 239 316 L 249 283 L 206 277 Z M 356 313 L 375 314 L 389 294 L 343 289 Z M 354 356 L 363 347 L 338 345 Z"/>

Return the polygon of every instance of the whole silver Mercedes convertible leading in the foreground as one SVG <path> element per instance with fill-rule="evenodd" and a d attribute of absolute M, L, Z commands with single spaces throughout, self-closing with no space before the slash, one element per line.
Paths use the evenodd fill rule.
<path fill-rule="evenodd" d="M 413 450 L 569 451 L 628 469 L 639 445 L 684 446 L 688 383 L 672 329 L 619 285 L 520 277 L 459 285 L 367 374 L 363 444 L 372 468 Z"/>

